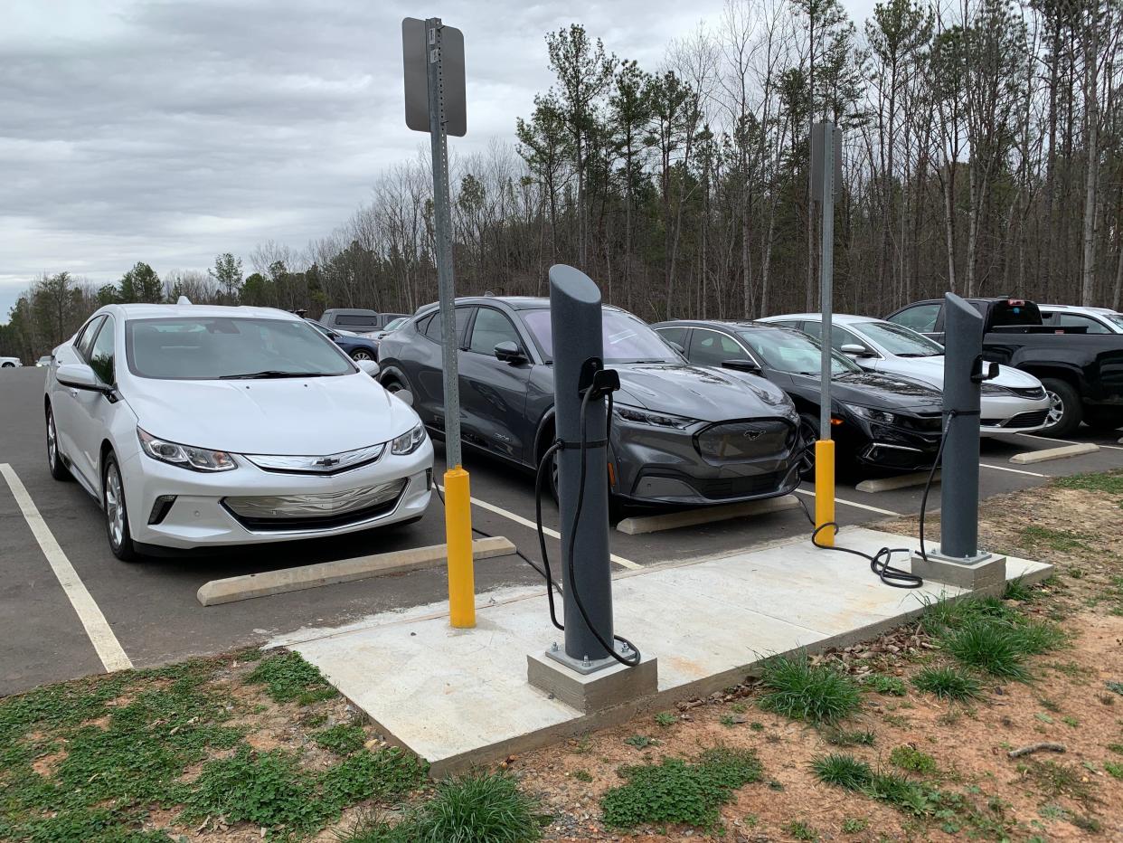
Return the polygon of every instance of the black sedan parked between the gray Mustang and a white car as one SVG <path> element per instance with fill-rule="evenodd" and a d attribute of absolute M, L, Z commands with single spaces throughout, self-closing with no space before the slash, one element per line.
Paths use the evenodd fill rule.
<path fill-rule="evenodd" d="M 676 320 L 652 326 L 686 350 L 692 363 L 761 374 L 787 392 L 800 413 L 804 439 L 819 438 L 822 405 L 819 343 L 803 332 L 750 321 Z M 943 396 L 926 383 L 866 372 L 831 352 L 831 438 L 842 468 L 919 471 L 940 446 Z M 809 448 L 802 473 L 810 475 Z"/>

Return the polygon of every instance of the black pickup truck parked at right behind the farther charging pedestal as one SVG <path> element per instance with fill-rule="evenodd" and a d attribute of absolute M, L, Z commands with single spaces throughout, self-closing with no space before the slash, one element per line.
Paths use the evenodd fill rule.
<path fill-rule="evenodd" d="M 1108 430 L 1123 426 L 1123 335 L 1042 325 L 1038 306 L 1025 299 L 968 301 L 983 315 L 983 356 L 1037 375 L 1049 393 L 1042 433 L 1067 436 L 1081 422 Z M 943 342 L 942 299 L 916 301 L 885 318 Z"/>

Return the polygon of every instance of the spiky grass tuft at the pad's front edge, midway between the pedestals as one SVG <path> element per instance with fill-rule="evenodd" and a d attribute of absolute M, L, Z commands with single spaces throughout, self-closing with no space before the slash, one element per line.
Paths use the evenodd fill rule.
<path fill-rule="evenodd" d="M 861 705 L 861 691 L 852 679 L 825 664 L 811 664 L 806 653 L 768 659 L 761 669 L 760 707 L 765 710 L 833 724 Z"/>

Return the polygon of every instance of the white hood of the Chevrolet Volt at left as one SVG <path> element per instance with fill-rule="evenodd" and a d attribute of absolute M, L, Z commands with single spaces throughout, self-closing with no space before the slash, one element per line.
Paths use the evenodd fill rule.
<path fill-rule="evenodd" d="M 153 436 L 235 454 L 336 454 L 387 442 L 418 423 L 411 407 L 363 372 L 121 386 Z"/>

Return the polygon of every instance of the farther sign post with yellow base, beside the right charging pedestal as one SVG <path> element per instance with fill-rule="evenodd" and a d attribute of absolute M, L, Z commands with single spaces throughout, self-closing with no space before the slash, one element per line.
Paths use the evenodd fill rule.
<path fill-rule="evenodd" d="M 822 307 L 822 356 L 819 378 L 822 399 L 819 406 L 819 442 L 815 443 L 815 527 L 834 522 L 834 442 L 831 439 L 831 309 L 834 272 L 834 124 L 816 123 L 812 127 L 812 183 L 819 193 L 822 210 L 821 260 L 819 265 L 820 302 Z M 818 155 L 815 153 L 819 153 Z M 824 529 L 821 544 L 834 544 L 834 529 Z"/>

